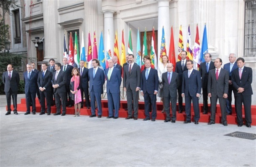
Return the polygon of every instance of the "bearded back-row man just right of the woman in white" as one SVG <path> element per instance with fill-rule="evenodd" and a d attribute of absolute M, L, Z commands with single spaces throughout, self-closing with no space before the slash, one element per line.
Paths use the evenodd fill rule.
<path fill-rule="evenodd" d="M 183 109 L 183 98 L 182 98 L 182 77 L 183 72 L 188 70 L 186 63 L 187 63 L 187 51 L 182 51 L 180 53 L 180 56 L 182 58 L 181 61 L 178 61 L 176 63 L 175 72 L 179 74 L 179 86 L 178 86 L 178 103 L 179 103 L 179 113 L 182 113 L 184 111 Z"/>

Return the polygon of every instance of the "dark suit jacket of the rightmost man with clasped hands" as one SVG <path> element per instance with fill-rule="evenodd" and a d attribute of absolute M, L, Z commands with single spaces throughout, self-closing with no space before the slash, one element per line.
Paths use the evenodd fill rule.
<path fill-rule="evenodd" d="M 234 90 L 234 95 L 235 96 L 249 96 L 253 94 L 252 91 L 252 68 L 250 67 L 245 67 L 243 68 L 242 71 L 242 76 L 241 79 L 239 77 L 239 68 L 235 69 L 232 72 L 232 85 Z M 244 88 L 244 91 L 242 93 L 238 93 L 237 89 L 238 88 Z"/>

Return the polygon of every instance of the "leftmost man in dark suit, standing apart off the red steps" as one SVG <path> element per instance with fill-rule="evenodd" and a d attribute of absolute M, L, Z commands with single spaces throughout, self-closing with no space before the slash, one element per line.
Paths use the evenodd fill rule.
<path fill-rule="evenodd" d="M 6 95 L 7 100 L 7 113 L 5 115 L 9 115 L 12 111 L 10 108 L 11 104 L 11 96 L 13 98 L 13 107 L 14 107 L 14 114 L 18 115 L 17 112 L 17 94 L 18 94 L 18 87 L 20 83 L 20 76 L 19 73 L 13 71 L 13 65 L 7 65 L 7 71 L 3 72 L 3 84 L 4 84 L 4 92 Z"/>

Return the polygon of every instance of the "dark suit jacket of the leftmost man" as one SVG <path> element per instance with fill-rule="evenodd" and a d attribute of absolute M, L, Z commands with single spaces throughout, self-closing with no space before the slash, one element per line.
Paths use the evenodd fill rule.
<path fill-rule="evenodd" d="M 4 92 L 18 92 L 19 83 L 20 83 L 20 75 L 18 72 L 13 71 L 11 79 L 9 79 L 8 71 L 3 72 L 2 79 L 4 83 Z"/>

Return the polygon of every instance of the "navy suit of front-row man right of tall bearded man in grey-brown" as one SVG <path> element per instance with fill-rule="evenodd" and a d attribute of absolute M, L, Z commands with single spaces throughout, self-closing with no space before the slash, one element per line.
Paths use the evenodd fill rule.
<path fill-rule="evenodd" d="M 155 91 L 158 91 L 158 74 L 157 70 L 150 68 L 148 72 L 148 78 L 146 78 L 146 72 L 148 69 L 141 73 L 141 91 L 144 94 L 144 105 L 145 105 L 145 115 L 146 119 L 150 119 L 149 112 L 151 111 L 150 104 L 152 106 L 152 114 L 151 117 L 154 120 L 156 118 L 156 95 L 154 95 Z"/>

